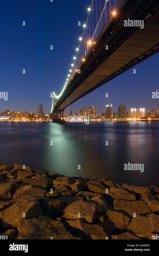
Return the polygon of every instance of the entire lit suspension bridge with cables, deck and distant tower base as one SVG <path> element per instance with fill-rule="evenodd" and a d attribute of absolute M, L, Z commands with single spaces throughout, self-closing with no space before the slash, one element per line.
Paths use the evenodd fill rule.
<path fill-rule="evenodd" d="M 92 0 L 51 118 L 159 51 L 159 0 Z"/>

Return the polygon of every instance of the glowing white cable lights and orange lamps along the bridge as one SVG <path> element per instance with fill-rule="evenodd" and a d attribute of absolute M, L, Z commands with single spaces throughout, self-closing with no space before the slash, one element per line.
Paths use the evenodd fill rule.
<path fill-rule="evenodd" d="M 54 95 L 54 96 L 53 96 L 53 101 L 52 101 L 52 110 L 53 110 L 53 108 L 54 108 L 54 97 L 55 97 L 56 99 L 60 99 L 60 97 L 62 96 L 63 92 L 65 91 L 65 89 L 66 89 L 67 86 L 69 85 L 71 79 L 73 79 L 72 76 L 75 74 L 75 72 L 78 72 L 78 69 L 75 69 L 75 72 L 72 73 L 72 72 L 73 72 L 73 67 L 74 67 L 75 61 L 76 61 L 77 56 L 78 56 L 78 52 L 80 51 L 81 43 L 82 43 L 82 41 L 83 41 L 83 36 L 84 36 L 84 33 L 85 33 L 85 29 L 87 28 L 88 19 L 89 19 L 89 16 L 90 16 L 90 14 L 91 14 L 91 11 L 92 11 L 92 6 L 93 6 L 93 1 L 92 1 L 91 6 L 87 8 L 87 11 L 88 11 L 87 20 L 86 20 L 86 22 L 82 25 L 82 26 L 83 26 L 83 33 L 82 33 L 82 35 L 78 38 L 78 40 L 79 40 L 80 43 L 79 43 L 78 47 L 75 48 L 76 54 L 73 56 L 73 62 L 71 63 L 71 67 L 70 67 L 70 69 L 69 69 L 69 73 L 68 73 L 68 75 L 67 75 L 67 79 L 66 79 L 66 82 L 65 82 L 65 84 L 64 84 L 64 87 L 63 87 L 63 89 L 62 89 L 62 91 L 61 91 L 61 93 L 60 93 L 59 95 L 56 95 L 55 92 L 53 92 L 53 95 Z M 113 14 L 113 15 L 116 15 L 116 11 L 113 11 L 112 14 Z M 87 41 L 87 44 L 88 44 L 88 47 L 89 47 L 89 46 L 91 46 L 91 45 L 93 45 L 93 44 L 96 44 L 96 42 L 93 42 L 92 39 L 91 39 L 91 40 Z M 85 62 L 85 61 L 86 61 L 86 59 L 85 59 L 85 57 L 83 57 L 82 60 L 81 60 L 81 64 L 82 64 L 83 62 Z M 80 65 L 81 65 L 81 64 L 80 64 Z M 51 112 L 52 112 L 52 110 L 51 110 Z"/>

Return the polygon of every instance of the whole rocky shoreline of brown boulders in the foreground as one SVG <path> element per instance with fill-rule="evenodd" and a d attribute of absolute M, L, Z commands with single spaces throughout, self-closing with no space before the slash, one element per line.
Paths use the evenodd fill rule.
<path fill-rule="evenodd" d="M 0 239 L 159 239 L 159 188 L 0 162 Z"/>

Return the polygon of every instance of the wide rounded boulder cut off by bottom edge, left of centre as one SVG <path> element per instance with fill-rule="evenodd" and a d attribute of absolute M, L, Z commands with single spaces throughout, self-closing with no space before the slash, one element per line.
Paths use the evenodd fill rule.
<path fill-rule="evenodd" d="M 18 231 L 17 239 L 76 239 L 60 221 L 28 219 L 19 224 Z"/>

